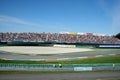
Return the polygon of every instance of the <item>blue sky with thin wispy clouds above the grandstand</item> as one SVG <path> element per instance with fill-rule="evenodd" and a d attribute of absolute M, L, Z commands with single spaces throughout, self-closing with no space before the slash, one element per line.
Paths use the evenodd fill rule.
<path fill-rule="evenodd" d="M 0 32 L 120 32 L 120 0 L 0 0 Z"/>

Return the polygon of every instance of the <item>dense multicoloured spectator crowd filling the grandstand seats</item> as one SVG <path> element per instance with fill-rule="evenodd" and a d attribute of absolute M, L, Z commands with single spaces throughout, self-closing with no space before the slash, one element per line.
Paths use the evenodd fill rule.
<path fill-rule="evenodd" d="M 120 44 L 120 40 L 113 36 L 92 34 L 67 34 L 67 33 L 3 33 L 0 32 L 0 41 L 58 41 L 58 42 L 89 42 Z"/>

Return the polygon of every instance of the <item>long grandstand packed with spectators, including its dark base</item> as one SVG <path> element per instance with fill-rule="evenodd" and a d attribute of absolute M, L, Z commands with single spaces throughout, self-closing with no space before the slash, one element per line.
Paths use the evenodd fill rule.
<path fill-rule="evenodd" d="M 0 32 L 0 43 L 9 45 L 37 45 L 53 46 L 53 44 L 74 44 L 95 47 L 116 47 L 120 48 L 120 40 L 113 36 L 95 35 L 93 33 L 78 34 L 69 33 L 12 33 Z M 103 46 L 105 45 L 105 46 Z M 106 46 L 107 45 L 107 46 Z"/>

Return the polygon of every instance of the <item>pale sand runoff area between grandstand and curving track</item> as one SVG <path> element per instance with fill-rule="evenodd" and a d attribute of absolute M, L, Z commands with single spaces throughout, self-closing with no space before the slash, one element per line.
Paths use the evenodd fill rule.
<path fill-rule="evenodd" d="M 61 47 L 36 47 L 36 46 L 4 46 L 0 51 L 19 54 L 60 54 L 72 52 L 93 51 L 88 48 L 61 48 Z"/>

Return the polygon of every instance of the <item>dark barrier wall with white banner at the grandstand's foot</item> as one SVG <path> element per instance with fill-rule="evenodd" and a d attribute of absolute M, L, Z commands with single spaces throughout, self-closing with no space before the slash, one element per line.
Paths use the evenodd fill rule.
<path fill-rule="evenodd" d="M 55 47 L 77 47 L 77 48 L 120 48 L 120 44 L 102 44 L 90 42 L 54 42 L 54 41 L 11 41 L 0 42 L 0 46 L 55 46 Z"/>

